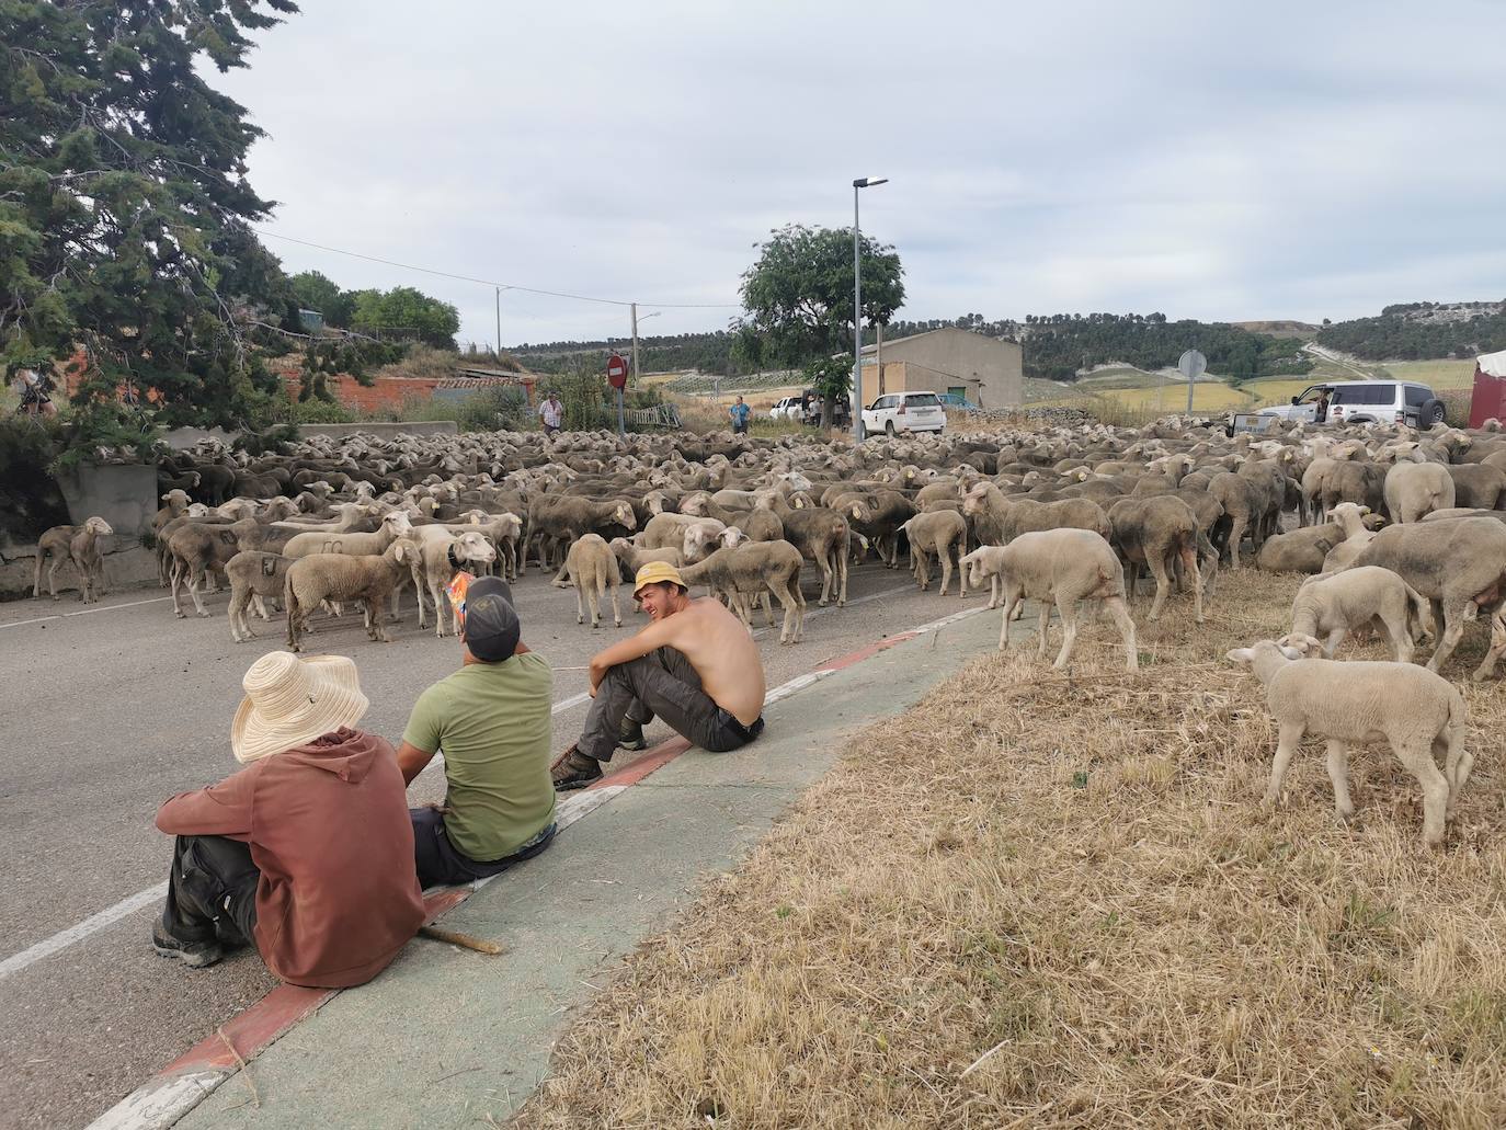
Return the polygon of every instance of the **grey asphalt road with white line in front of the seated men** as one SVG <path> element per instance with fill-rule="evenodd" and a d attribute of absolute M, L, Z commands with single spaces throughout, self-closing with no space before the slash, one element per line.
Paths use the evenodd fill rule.
<path fill-rule="evenodd" d="M 779 645 L 777 604 L 774 631 L 759 633 L 770 687 L 986 600 L 943 600 L 934 586 L 920 594 L 904 570 L 866 565 L 852 571 L 848 607 L 818 609 L 812 577 L 807 570 L 806 640 Z M 574 592 L 551 588 L 536 570 L 515 588 L 515 598 L 524 640 L 554 664 L 560 750 L 584 720 L 584 702 L 560 704 L 586 690 L 586 661 L 643 619 L 633 615 L 623 589 L 620 630 L 610 619 L 598 631 L 577 625 Z M 172 844 L 152 826 L 157 806 L 238 768 L 229 728 L 241 675 L 282 645 L 282 619 L 255 621 L 259 639 L 232 643 L 226 601 L 227 594 L 211 595 L 214 616 L 185 621 L 173 618 L 157 589 L 111 594 L 87 610 L 69 600 L 0 606 L 0 678 L 8 689 L 0 705 L 0 967 L 160 884 Z M 351 613 L 318 622 L 307 640 L 309 651 L 355 658 L 372 701 L 361 725 L 395 744 L 419 692 L 459 664 L 459 645 L 435 639 L 432 627 L 417 628 L 411 595 L 405 606 L 390 645 L 369 642 Z M 649 729 L 651 741 L 666 735 L 660 725 Z M 410 799 L 441 794 L 443 774 L 431 770 Z M 154 913 L 155 901 L 143 904 L 0 973 L 0 1124 L 86 1125 L 276 984 L 250 954 L 202 972 L 155 957 Z"/>

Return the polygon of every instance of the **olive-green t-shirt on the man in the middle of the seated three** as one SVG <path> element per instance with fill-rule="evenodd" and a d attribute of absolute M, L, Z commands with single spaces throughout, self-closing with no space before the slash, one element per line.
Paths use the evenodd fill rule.
<path fill-rule="evenodd" d="M 511 856 L 554 820 L 554 673 L 529 651 L 468 663 L 419 696 L 402 740 L 444 752 L 444 830 L 474 860 Z"/>

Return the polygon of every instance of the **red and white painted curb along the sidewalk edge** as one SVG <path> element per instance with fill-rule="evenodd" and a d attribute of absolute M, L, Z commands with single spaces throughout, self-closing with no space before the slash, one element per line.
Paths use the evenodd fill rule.
<path fill-rule="evenodd" d="M 929 631 L 937 631 L 980 612 L 986 612 L 986 609 L 964 609 L 962 612 L 922 624 L 908 631 L 886 636 L 881 640 L 869 643 L 866 648 L 827 660 L 813 670 L 797 675 L 788 683 L 774 687 L 765 698 L 765 705 L 786 699 L 806 687 L 836 675 L 839 670 L 855 666 L 899 643 Z M 565 797 L 556 809 L 556 823 L 560 830 L 565 830 L 577 820 L 587 817 L 620 796 L 625 789 L 658 771 L 688 749 L 691 749 L 691 744 L 682 737 L 673 737 L 669 741 L 660 743 L 616 773 L 610 773 L 580 793 Z M 458 907 L 476 890 L 491 883 L 492 878 L 497 877 L 492 875 L 464 887 L 435 887 L 425 893 L 423 906 L 428 910 L 425 922 L 434 922 L 446 912 Z M 146 1083 L 99 1115 L 99 1118 L 89 1124 L 87 1130 L 167 1130 L 167 1127 L 172 1127 L 179 1118 L 208 1098 L 224 1080 L 233 1076 L 241 1064 L 256 1059 L 256 1056 L 277 1043 L 280 1037 L 313 1015 L 340 991 L 343 990 L 279 985 L 244 1012 L 239 1012 L 223 1025 L 212 1037 L 194 1044 L 194 1047 L 170 1062 Z M 224 1038 L 221 1038 L 221 1032 Z M 229 1046 L 226 1041 L 229 1041 Z"/>

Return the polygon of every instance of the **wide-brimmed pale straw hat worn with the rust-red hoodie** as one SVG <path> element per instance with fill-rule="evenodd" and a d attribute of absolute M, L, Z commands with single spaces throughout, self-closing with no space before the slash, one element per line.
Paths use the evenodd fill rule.
<path fill-rule="evenodd" d="M 252 664 L 241 686 L 245 698 L 230 723 L 230 752 L 241 764 L 352 726 L 370 705 L 345 655 L 273 651 Z"/>

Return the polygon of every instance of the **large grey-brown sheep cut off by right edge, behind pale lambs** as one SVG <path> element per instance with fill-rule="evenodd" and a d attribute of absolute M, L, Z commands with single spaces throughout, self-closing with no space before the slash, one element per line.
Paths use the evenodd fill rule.
<path fill-rule="evenodd" d="M 1492 518 L 1410 521 L 1389 526 L 1354 559 L 1381 565 L 1401 576 L 1432 601 L 1437 648 L 1428 670 L 1440 670 L 1464 636 L 1464 625 L 1480 610 L 1494 616 L 1506 606 L 1506 524 Z M 1470 676 L 1491 675 L 1495 657 L 1486 652 Z"/>

